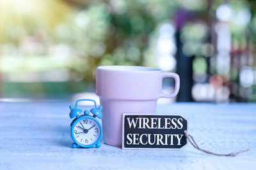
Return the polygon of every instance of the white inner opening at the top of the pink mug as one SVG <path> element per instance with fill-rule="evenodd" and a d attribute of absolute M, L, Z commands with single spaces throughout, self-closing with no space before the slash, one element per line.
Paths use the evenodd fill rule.
<path fill-rule="evenodd" d="M 124 71 L 124 72 L 156 72 L 162 71 L 154 67 L 144 66 L 99 66 L 97 69 L 104 71 Z"/>

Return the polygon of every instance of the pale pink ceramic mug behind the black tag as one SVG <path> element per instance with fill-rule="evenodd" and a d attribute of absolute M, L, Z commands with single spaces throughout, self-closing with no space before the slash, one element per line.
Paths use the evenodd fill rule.
<path fill-rule="evenodd" d="M 171 94 L 162 92 L 165 77 L 175 79 Z M 122 113 L 155 113 L 157 99 L 175 97 L 180 78 L 175 73 L 139 66 L 97 67 L 96 94 L 103 106 L 103 137 L 108 145 L 122 145 Z"/>

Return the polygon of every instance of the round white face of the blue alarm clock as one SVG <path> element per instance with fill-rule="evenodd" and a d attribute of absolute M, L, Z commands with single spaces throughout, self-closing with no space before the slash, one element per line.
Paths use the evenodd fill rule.
<path fill-rule="evenodd" d="M 91 145 L 100 137 L 100 127 L 95 120 L 84 118 L 74 125 L 72 133 L 81 145 Z"/>

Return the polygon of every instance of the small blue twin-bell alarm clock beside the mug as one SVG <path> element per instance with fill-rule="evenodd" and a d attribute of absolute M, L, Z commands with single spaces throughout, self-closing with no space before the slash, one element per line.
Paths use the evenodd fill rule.
<path fill-rule="evenodd" d="M 84 111 L 84 114 L 81 109 L 77 108 L 77 103 L 79 101 L 93 101 L 95 108 L 92 108 L 90 112 L 92 116 L 89 115 L 90 112 L 88 110 Z M 102 118 L 102 106 L 97 108 L 96 102 L 92 99 L 80 99 L 76 101 L 76 106 L 69 106 L 70 113 L 69 117 L 74 118 L 71 122 L 71 138 L 74 143 L 72 144 L 72 148 L 77 148 L 77 146 L 81 146 L 83 148 L 91 148 L 96 146 L 96 148 L 100 148 L 100 139 L 102 138 L 102 126 L 100 122 L 97 120 L 98 118 Z"/>

